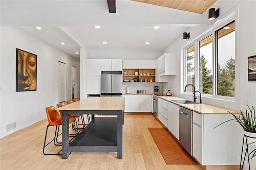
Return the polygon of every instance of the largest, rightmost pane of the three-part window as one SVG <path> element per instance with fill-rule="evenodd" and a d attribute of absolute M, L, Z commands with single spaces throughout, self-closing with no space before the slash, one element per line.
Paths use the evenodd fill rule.
<path fill-rule="evenodd" d="M 216 31 L 217 93 L 234 96 L 234 21 Z"/>

